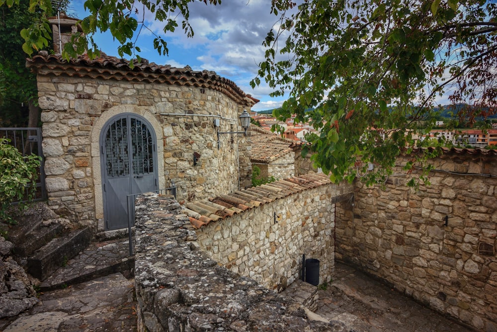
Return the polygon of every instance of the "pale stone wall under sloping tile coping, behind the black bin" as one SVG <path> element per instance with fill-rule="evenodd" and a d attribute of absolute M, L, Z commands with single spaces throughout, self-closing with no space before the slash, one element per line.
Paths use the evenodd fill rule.
<path fill-rule="evenodd" d="M 302 254 L 320 260 L 320 283 L 334 267 L 334 204 L 350 186 L 327 184 L 210 222 L 197 242 L 222 266 L 281 291 L 300 278 Z M 275 222 L 276 218 L 276 222 Z"/>

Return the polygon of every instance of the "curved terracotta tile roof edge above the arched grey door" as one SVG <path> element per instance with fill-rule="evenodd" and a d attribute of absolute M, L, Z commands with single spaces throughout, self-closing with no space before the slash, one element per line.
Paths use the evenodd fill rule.
<path fill-rule="evenodd" d="M 26 59 L 26 67 L 35 73 L 55 76 L 89 77 L 92 79 L 114 79 L 117 81 L 164 83 L 183 86 L 209 88 L 220 91 L 239 104 L 248 107 L 258 100 L 245 94 L 233 81 L 221 77 L 213 71 L 194 71 L 189 66 L 174 68 L 169 65 L 158 65 L 142 59 L 134 62 L 131 69 L 129 61 L 102 54 L 90 60 L 80 55 L 69 62 L 60 55 L 41 51 L 38 55 Z"/>

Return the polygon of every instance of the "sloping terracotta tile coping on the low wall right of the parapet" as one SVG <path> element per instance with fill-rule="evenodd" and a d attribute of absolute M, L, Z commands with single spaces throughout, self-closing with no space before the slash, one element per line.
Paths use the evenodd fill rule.
<path fill-rule="evenodd" d="M 274 200 L 328 183 L 331 183 L 330 179 L 322 173 L 301 175 L 300 177 L 278 180 L 236 191 L 228 195 L 187 203 L 183 206 L 183 211 L 193 227 L 198 229 L 209 222 L 224 220 Z"/>

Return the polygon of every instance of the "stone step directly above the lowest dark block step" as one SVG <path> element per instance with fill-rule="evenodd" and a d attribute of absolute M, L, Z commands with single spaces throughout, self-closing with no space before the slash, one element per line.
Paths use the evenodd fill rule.
<path fill-rule="evenodd" d="M 14 246 L 16 256 L 28 257 L 36 250 L 47 244 L 48 241 L 58 236 L 64 226 L 60 223 L 52 223 L 50 225 L 39 225 L 35 231 L 25 235 L 22 241 L 18 241 Z"/>

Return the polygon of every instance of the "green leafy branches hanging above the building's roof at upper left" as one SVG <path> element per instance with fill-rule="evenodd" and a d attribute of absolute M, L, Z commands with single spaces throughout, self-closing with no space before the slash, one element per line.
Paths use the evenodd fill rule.
<path fill-rule="evenodd" d="M 18 4 L 20 0 L 0 0 L 0 6 L 6 4 L 12 6 Z M 150 12 L 157 21 L 165 22 L 164 32 L 173 32 L 178 28 L 178 21 L 181 20 L 181 28 L 189 37 L 193 36 L 193 29 L 188 21 L 190 11 L 188 5 L 195 0 L 86 0 L 84 8 L 89 15 L 84 17 L 80 24 L 83 29 L 82 33 L 73 35 L 72 43 L 66 44 L 63 51 L 65 59 L 75 57 L 78 54 L 87 52 L 90 58 L 98 56 L 100 51 L 98 45 L 93 40 L 93 35 L 97 32 L 110 31 L 112 36 L 121 44 L 117 52 L 123 57 L 136 56 L 140 48 L 136 46 L 137 38 L 143 29 L 155 35 L 153 41 L 154 48 L 159 54 L 168 53 L 166 41 L 159 35 L 155 34 L 145 24 L 145 13 Z M 221 0 L 198 0 L 205 4 L 218 4 Z M 29 0 L 29 10 L 34 12 L 40 10 L 44 13 L 51 11 L 50 0 Z M 136 15 L 142 15 L 141 20 Z M 182 18 L 179 18 L 182 17 Z M 32 24 L 30 27 L 21 32 L 25 43 L 23 50 L 31 55 L 34 51 L 43 48 L 50 40 L 50 27 L 46 17 Z M 131 63 L 132 64 L 132 63 Z"/>

